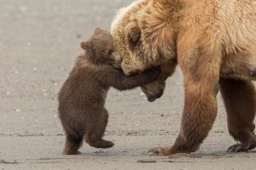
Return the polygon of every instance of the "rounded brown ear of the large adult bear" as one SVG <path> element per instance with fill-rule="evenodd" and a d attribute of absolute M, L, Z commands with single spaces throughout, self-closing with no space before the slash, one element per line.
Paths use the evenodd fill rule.
<path fill-rule="evenodd" d="M 131 51 L 134 51 L 140 39 L 141 31 L 136 23 L 131 23 L 125 27 L 125 41 Z"/>

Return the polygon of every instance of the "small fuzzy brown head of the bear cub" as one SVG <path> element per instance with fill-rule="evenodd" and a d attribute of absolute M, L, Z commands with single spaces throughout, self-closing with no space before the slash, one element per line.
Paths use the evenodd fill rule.
<path fill-rule="evenodd" d="M 115 50 L 113 37 L 109 31 L 96 28 L 89 40 L 80 43 L 86 51 L 86 57 L 96 65 L 121 67 L 122 56 Z"/>

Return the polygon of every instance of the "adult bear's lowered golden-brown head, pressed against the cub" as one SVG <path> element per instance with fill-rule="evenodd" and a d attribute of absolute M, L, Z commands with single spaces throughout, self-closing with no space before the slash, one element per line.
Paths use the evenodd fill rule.
<path fill-rule="evenodd" d="M 160 98 L 166 78 L 172 75 L 177 64 L 175 31 L 166 19 L 168 11 L 160 6 L 165 8 L 158 1 L 131 3 L 119 10 L 111 26 L 115 48 L 123 56 L 121 67 L 126 75 L 161 65 L 160 76 L 142 87 L 149 101 Z"/>

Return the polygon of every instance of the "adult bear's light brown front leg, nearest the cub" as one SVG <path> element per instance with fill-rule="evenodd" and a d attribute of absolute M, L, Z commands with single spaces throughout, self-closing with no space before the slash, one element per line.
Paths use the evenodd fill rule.
<path fill-rule="evenodd" d="M 198 32 L 203 36 L 196 37 Z M 213 36 L 207 36 L 207 32 L 193 30 L 180 37 L 177 43 L 177 60 L 183 71 L 185 94 L 182 122 L 171 148 L 158 147 L 150 150 L 159 156 L 198 150 L 211 130 L 218 111 L 216 94 L 221 60 L 218 38 L 213 41 Z"/>

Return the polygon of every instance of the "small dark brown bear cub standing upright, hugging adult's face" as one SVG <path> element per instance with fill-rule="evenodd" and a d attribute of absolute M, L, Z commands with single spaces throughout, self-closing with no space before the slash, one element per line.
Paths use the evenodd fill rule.
<path fill-rule="evenodd" d="M 81 42 L 84 54 L 59 93 L 59 116 L 66 133 L 63 154 L 76 155 L 83 139 L 96 148 L 110 148 L 113 142 L 102 139 L 108 123 L 105 100 L 108 89 L 126 90 L 154 81 L 160 67 L 141 74 L 125 76 L 122 57 L 115 51 L 109 31 L 96 28 L 94 35 Z"/>

